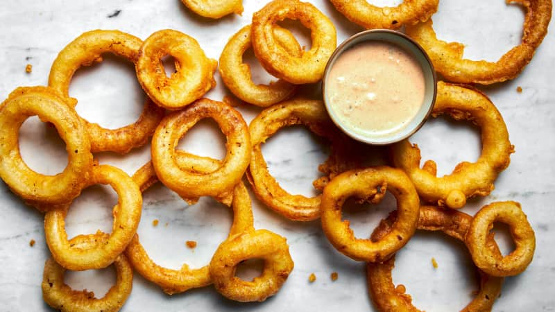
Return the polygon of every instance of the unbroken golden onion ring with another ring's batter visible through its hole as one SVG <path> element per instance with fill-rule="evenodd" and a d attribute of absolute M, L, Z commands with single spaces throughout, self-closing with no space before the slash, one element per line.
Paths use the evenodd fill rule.
<path fill-rule="evenodd" d="M 207 117 L 218 123 L 228 139 L 228 153 L 219 168 L 209 173 L 180 167 L 175 157 L 179 139 L 197 121 Z M 187 157 L 187 154 L 180 157 Z M 185 200 L 194 201 L 200 196 L 217 198 L 231 191 L 241 181 L 249 161 L 250 138 L 243 117 L 230 105 L 207 98 L 166 116 L 152 140 L 152 162 L 158 178 Z"/>

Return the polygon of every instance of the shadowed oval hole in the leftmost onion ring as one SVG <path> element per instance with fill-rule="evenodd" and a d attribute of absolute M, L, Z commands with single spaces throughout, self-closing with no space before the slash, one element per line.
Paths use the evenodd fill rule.
<path fill-rule="evenodd" d="M 31 170 L 56 175 L 67 166 L 67 151 L 56 127 L 37 116 L 28 118 L 19 128 L 19 153 Z"/>

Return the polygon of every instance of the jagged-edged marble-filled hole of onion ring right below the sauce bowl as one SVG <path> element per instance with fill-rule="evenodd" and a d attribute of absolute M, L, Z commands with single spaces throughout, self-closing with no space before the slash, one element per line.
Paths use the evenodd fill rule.
<path fill-rule="evenodd" d="M 481 154 L 479 128 L 449 117 L 428 119 L 410 141 L 420 148 L 420 166 L 427 159 L 436 162 L 438 177 L 450 175 L 460 162 L 476 162 Z"/>

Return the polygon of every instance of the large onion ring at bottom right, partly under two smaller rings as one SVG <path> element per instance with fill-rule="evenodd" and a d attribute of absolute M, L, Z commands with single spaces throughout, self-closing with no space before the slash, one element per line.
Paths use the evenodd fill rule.
<path fill-rule="evenodd" d="M 394 219 L 395 214 L 390 214 L 386 220 L 382 220 L 382 223 L 373 232 L 372 239 L 379 240 L 387 234 L 391 230 Z M 420 216 L 418 218 L 418 229 L 442 231 L 454 239 L 464 241 L 464 236 L 471 220 L 471 216 L 459 211 L 422 206 L 420 207 Z M 488 239 L 488 248 L 496 254 L 500 254 L 493 236 L 490 236 Z M 393 284 L 391 271 L 394 266 L 395 257 L 391 257 L 391 259 L 384 263 L 368 263 L 368 292 L 370 297 L 379 311 L 420 311 L 411 304 L 412 298 L 404 293 L 404 286 L 398 285 L 395 287 Z M 478 275 L 480 278 L 480 291 L 475 299 L 461 311 L 491 311 L 493 303 L 501 293 L 502 277 L 492 277 L 481 272 L 481 270 L 478 270 Z"/>

